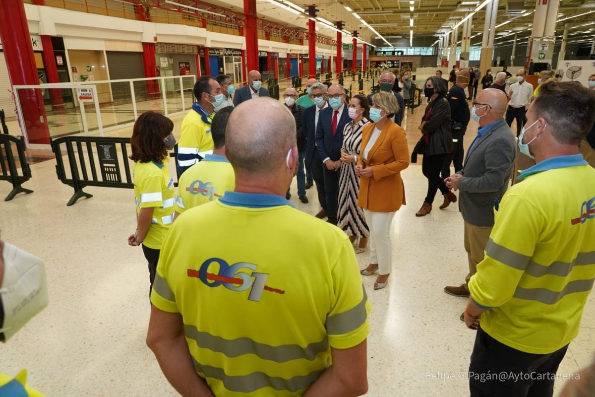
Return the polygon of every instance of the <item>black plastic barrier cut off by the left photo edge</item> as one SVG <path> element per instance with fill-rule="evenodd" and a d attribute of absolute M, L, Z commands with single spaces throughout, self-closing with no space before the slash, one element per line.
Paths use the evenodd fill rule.
<path fill-rule="evenodd" d="M 12 145 L 16 146 L 18 162 L 20 162 L 21 174 L 18 174 L 17 163 L 12 153 Z M 0 180 L 8 180 L 12 183 L 12 190 L 4 201 L 11 201 L 18 193 L 33 193 L 33 190 L 25 189 L 22 183 L 31 179 L 31 168 L 25 156 L 25 142 L 23 137 L 0 134 Z"/>

